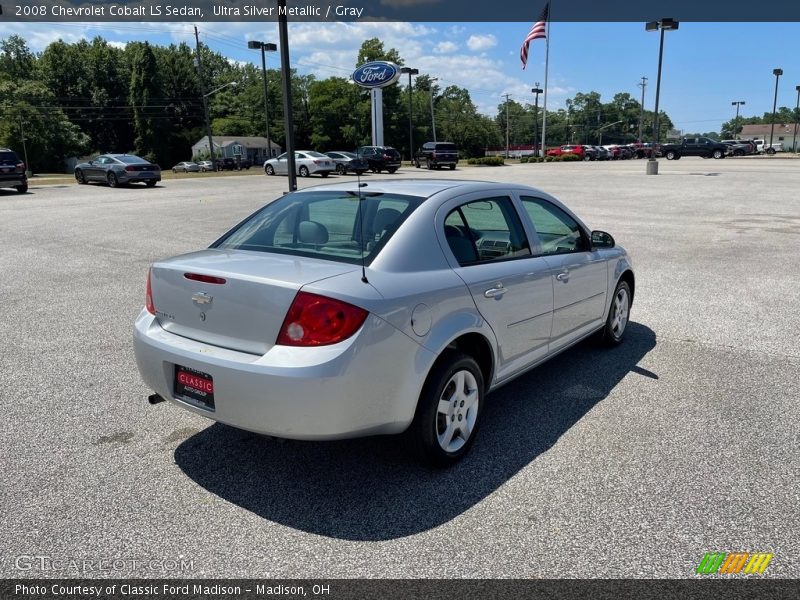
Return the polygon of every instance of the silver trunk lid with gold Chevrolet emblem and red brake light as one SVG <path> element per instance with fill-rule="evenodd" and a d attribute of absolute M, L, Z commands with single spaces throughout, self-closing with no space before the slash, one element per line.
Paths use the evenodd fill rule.
<path fill-rule="evenodd" d="M 297 291 L 354 270 L 350 264 L 244 250 L 204 250 L 153 265 L 156 317 L 176 335 L 265 354 Z M 213 283 L 218 278 L 218 283 Z"/>

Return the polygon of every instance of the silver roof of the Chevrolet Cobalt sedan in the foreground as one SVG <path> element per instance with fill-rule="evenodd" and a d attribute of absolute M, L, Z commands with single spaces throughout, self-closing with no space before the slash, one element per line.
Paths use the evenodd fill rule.
<path fill-rule="evenodd" d="M 359 190 L 364 193 L 383 193 L 383 194 L 400 194 L 408 196 L 420 196 L 423 198 L 430 198 L 431 196 L 443 192 L 445 190 L 453 190 L 463 188 L 464 193 L 502 190 L 508 192 L 510 189 L 525 189 L 539 194 L 544 194 L 550 197 L 549 194 L 532 188 L 530 186 L 521 184 L 497 183 L 493 181 L 477 181 L 477 180 L 462 180 L 462 179 L 404 179 L 398 181 L 396 179 L 379 179 L 369 181 L 362 181 L 364 187 L 359 188 L 358 184 L 354 181 L 337 182 L 324 185 L 316 185 L 313 187 L 305 188 L 295 192 L 296 194 L 303 194 L 305 192 L 313 192 L 319 190 L 329 190 L 332 192 L 358 192 Z"/>

